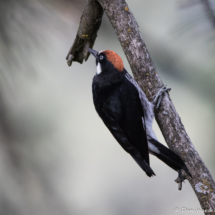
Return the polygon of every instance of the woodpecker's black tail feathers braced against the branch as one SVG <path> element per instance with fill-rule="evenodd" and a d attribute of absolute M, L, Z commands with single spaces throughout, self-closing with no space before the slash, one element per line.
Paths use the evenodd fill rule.
<path fill-rule="evenodd" d="M 153 155 L 162 160 L 172 169 L 176 171 L 183 169 L 190 177 L 192 177 L 184 161 L 175 152 L 168 149 L 166 146 L 159 143 L 157 140 L 153 138 L 149 138 L 149 142 L 152 143 L 159 150 L 159 153 L 153 152 Z"/>

